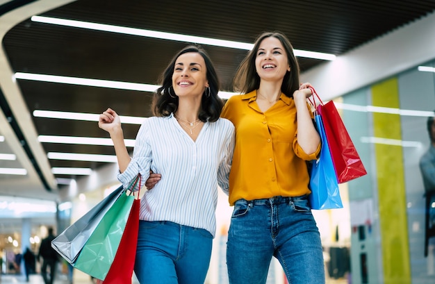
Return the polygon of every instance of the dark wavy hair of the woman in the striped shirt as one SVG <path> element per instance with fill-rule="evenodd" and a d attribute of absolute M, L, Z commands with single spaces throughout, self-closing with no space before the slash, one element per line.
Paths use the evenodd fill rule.
<path fill-rule="evenodd" d="M 153 103 L 151 110 L 154 115 L 158 117 L 167 117 L 172 112 L 176 112 L 179 106 L 179 98 L 174 92 L 172 87 L 172 74 L 174 74 L 175 62 L 179 56 L 188 52 L 199 53 L 206 62 L 206 77 L 208 85 L 210 87 L 210 95 L 208 90 L 204 91 L 201 99 L 201 108 L 199 110 L 199 119 L 202 122 L 215 122 L 220 117 L 220 112 L 224 106 L 224 102 L 217 96 L 219 92 L 220 81 L 217 77 L 216 69 L 213 66 L 213 62 L 202 47 L 197 45 L 188 45 L 181 49 L 174 58 L 170 61 L 170 64 L 166 67 L 163 74 L 159 79 L 161 87 L 154 92 Z M 172 90 L 170 91 L 170 87 Z"/>

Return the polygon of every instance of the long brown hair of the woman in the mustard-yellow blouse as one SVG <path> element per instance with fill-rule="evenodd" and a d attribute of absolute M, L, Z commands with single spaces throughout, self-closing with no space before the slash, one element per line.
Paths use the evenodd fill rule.
<path fill-rule="evenodd" d="M 258 87 L 260 87 L 260 76 L 256 73 L 255 59 L 261 42 L 267 37 L 276 37 L 281 42 L 287 53 L 290 72 L 287 72 L 284 76 L 281 85 L 281 92 L 291 98 L 293 97 L 293 92 L 299 89 L 299 63 L 293 53 L 292 44 L 290 44 L 286 35 L 279 31 L 264 32 L 258 35 L 254 42 L 254 47 L 249 51 L 249 53 L 247 53 L 247 56 L 240 63 L 236 71 L 236 75 L 233 78 L 233 90 L 234 92 L 246 94 L 257 90 Z"/>

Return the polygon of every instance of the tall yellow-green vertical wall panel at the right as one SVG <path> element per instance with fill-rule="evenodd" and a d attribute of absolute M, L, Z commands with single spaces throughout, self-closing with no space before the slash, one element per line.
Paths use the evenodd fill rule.
<path fill-rule="evenodd" d="M 399 108 L 397 78 L 372 85 L 372 104 Z M 375 137 L 401 140 L 400 115 L 373 112 Z M 375 144 L 384 283 L 411 283 L 402 147 Z"/>

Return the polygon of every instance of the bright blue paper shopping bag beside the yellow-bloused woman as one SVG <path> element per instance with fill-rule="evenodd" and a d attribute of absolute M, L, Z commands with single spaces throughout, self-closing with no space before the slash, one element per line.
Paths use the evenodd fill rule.
<path fill-rule="evenodd" d="M 325 128 L 318 114 L 315 115 L 315 126 L 322 140 L 322 149 L 318 160 L 311 161 L 310 165 L 310 206 L 316 210 L 343 208 Z"/>

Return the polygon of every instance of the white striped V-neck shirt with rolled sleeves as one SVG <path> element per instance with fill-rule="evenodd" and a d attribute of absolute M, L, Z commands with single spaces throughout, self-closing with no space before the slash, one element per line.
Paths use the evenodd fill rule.
<path fill-rule="evenodd" d="M 204 228 L 215 236 L 217 185 L 228 194 L 233 158 L 234 126 L 227 119 L 206 122 L 197 140 L 181 128 L 173 115 L 149 117 L 136 137 L 133 158 L 118 180 L 128 188 L 149 169 L 161 174 L 140 201 L 140 219 L 170 221 Z"/>

